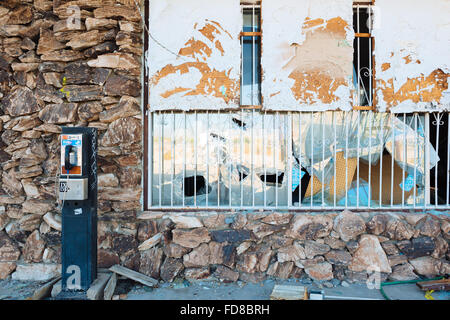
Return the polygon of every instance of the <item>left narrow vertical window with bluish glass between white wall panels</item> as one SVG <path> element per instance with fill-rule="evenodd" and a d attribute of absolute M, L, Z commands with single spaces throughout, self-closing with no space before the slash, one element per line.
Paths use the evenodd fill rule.
<path fill-rule="evenodd" d="M 241 106 L 261 105 L 261 27 L 259 5 L 242 5 Z"/>

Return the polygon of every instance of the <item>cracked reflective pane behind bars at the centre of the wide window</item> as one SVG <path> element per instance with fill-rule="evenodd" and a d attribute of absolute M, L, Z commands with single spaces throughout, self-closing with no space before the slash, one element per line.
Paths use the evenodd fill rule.
<path fill-rule="evenodd" d="M 228 202 L 232 206 L 286 205 L 287 117 L 241 112 L 225 119 L 220 173 Z"/>

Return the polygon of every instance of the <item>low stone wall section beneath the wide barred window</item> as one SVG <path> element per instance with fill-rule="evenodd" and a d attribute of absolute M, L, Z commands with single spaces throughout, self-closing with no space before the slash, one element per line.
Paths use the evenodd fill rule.
<path fill-rule="evenodd" d="M 365 282 L 376 271 L 380 281 L 450 273 L 446 214 L 143 212 L 138 220 L 137 239 L 122 250 L 140 243 L 135 269 L 163 281 L 272 277 L 333 285 Z"/>

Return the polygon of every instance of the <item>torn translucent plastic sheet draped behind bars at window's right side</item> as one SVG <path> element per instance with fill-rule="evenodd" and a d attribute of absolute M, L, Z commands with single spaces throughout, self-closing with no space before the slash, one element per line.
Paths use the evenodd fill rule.
<path fill-rule="evenodd" d="M 377 164 L 382 150 L 386 149 L 406 172 L 416 171 L 419 183 L 425 172 L 423 150 L 429 148 L 430 169 L 439 161 L 431 143 L 425 143 L 423 129 L 418 127 L 415 131 L 411 127 L 411 118 L 404 123 L 387 113 L 360 112 L 358 116 L 357 112 L 329 111 L 311 116 L 294 115 L 293 121 L 298 123 L 293 130 L 294 156 L 322 184 L 329 184 L 334 177 L 334 159 L 339 152 L 343 152 L 345 159 L 359 156 L 360 160 Z"/>

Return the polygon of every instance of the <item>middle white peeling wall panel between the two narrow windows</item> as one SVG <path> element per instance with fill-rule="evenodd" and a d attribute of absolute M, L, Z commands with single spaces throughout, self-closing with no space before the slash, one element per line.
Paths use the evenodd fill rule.
<path fill-rule="evenodd" d="M 263 2 L 265 110 L 351 109 L 352 19 L 351 0 Z"/>

